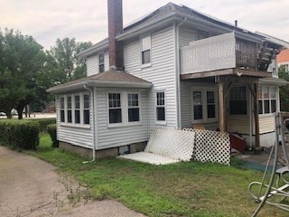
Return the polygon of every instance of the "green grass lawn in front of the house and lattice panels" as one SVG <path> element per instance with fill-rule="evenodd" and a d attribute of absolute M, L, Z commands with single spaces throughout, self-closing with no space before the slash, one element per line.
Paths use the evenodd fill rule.
<path fill-rule="evenodd" d="M 51 148 L 47 134 L 36 152 L 30 152 L 89 186 L 95 199 L 115 198 L 148 216 L 251 216 L 257 203 L 247 185 L 262 173 L 232 165 L 200 162 L 147 165 L 117 158 L 83 164 L 85 159 Z M 288 216 L 265 205 L 258 216 Z"/>

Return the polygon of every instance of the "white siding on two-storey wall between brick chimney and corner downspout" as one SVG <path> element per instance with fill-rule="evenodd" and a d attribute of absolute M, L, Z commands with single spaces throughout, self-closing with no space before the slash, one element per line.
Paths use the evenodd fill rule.
<path fill-rule="evenodd" d="M 125 43 L 124 61 L 126 71 L 144 80 L 154 83 L 149 90 L 150 127 L 155 125 L 155 92 L 165 90 L 166 98 L 166 126 L 177 127 L 176 101 L 176 71 L 174 56 L 173 28 L 168 27 L 160 32 L 151 34 L 151 67 L 142 68 L 142 43 L 135 40 Z"/>

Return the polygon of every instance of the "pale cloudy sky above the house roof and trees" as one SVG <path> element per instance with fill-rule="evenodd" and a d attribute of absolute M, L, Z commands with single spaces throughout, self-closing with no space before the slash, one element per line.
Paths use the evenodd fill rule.
<path fill-rule="evenodd" d="M 123 0 L 124 24 L 167 4 L 167 0 Z M 171 0 L 249 31 L 289 41 L 288 0 Z M 107 0 L 0 0 L 0 28 L 32 35 L 45 49 L 57 38 L 99 42 L 107 37 Z"/>

